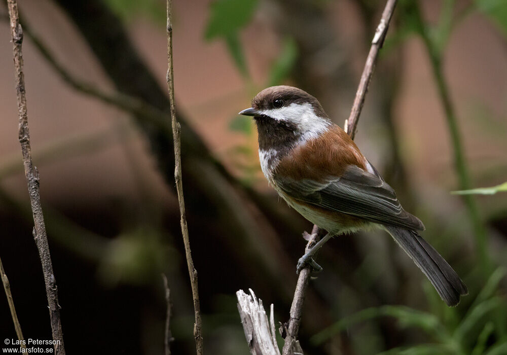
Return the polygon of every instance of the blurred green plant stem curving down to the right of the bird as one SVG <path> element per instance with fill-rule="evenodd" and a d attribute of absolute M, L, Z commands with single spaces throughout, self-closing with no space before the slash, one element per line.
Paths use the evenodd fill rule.
<path fill-rule="evenodd" d="M 417 4 L 415 4 L 414 8 L 415 12 L 415 20 L 417 24 L 417 30 L 421 39 L 424 43 L 424 47 L 428 53 L 428 57 L 430 60 L 431 69 L 433 72 L 433 77 L 437 84 L 437 90 L 442 101 L 442 106 L 444 108 L 444 113 L 447 121 L 447 126 L 449 129 L 449 135 L 451 138 L 451 144 L 454 151 L 454 168 L 456 169 L 456 173 L 458 175 L 458 183 L 460 190 L 469 190 L 470 184 L 470 173 L 468 172 L 468 167 L 466 166 L 466 159 L 463 153 L 463 145 L 461 143 L 461 134 L 459 132 L 459 126 L 456 119 L 456 113 L 454 110 L 454 105 L 451 102 L 449 87 L 447 86 L 447 82 L 444 78 L 444 73 L 442 72 L 442 55 L 438 46 L 434 41 L 432 41 L 426 31 L 424 26 L 421 13 Z M 473 195 L 463 195 L 463 200 L 465 202 L 468 216 L 472 223 L 472 227 L 474 228 L 474 235 L 476 239 L 476 245 L 479 253 L 479 260 L 481 262 L 481 266 L 483 268 L 483 272 L 487 274 L 491 271 L 491 263 L 488 257 L 487 250 L 487 231 L 482 222 L 479 207 L 477 206 L 476 199 Z"/>

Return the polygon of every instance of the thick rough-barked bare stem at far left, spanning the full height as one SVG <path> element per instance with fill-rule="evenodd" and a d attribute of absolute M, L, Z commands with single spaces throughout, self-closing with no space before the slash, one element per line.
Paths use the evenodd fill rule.
<path fill-rule="evenodd" d="M 46 294 L 48 297 L 49 315 L 51 319 L 51 331 L 53 340 L 55 340 L 55 353 L 64 355 L 63 336 L 60 322 L 60 305 L 58 304 L 58 293 L 56 287 L 51 255 L 49 253 L 48 237 L 46 235 L 46 225 L 42 213 L 41 197 L 39 193 L 39 171 L 33 165 L 31 158 L 30 134 L 28 131 L 28 116 L 26 112 L 26 94 L 23 75 L 23 54 L 21 45 L 23 43 L 23 30 L 19 23 L 18 6 L 16 0 L 8 0 L 12 45 L 14 52 L 14 67 L 16 72 L 16 96 L 18 100 L 19 115 L 19 143 L 23 154 L 23 165 L 25 168 L 26 181 L 28 184 L 28 194 L 30 195 L 30 204 L 33 213 L 33 237 L 39 250 L 39 256 L 42 262 L 44 273 L 44 282 L 46 283 Z"/>

